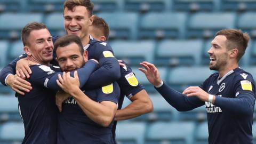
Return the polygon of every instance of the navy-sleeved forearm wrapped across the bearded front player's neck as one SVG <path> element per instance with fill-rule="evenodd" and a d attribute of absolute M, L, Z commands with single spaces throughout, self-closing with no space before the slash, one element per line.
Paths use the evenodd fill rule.
<path fill-rule="evenodd" d="M 93 61 L 93 60 L 89 60 L 88 62 L 86 62 L 86 64 L 82 67 L 77 69 L 77 74 L 79 77 L 79 83 L 80 83 L 80 87 L 83 87 L 85 85 L 85 83 L 87 82 L 87 80 L 89 79 L 90 75 L 92 74 L 92 72 L 98 67 L 97 62 Z M 53 90 L 58 90 L 60 91 L 61 88 L 60 86 L 57 84 L 57 79 L 58 79 L 58 74 L 62 75 L 62 73 L 57 73 L 55 75 L 53 75 L 49 81 L 47 82 L 47 87 L 49 87 L 50 89 Z M 72 71 L 70 73 L 71 76 L 74 76 L 74 71 Z"/>

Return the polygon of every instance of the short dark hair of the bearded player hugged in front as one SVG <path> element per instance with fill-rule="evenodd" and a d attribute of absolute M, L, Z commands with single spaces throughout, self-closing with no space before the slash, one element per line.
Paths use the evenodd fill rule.
<path fill-rule="evenodd" d="M 80 52 L 83 55 L 84 48 L 81 39 L 76 35 L 65 35 L 57 39 L 54 43 L 54 49 L 57 51 L 59 47 L 67 46 L 71 43 L 76 43 L 79 46 Z"/>

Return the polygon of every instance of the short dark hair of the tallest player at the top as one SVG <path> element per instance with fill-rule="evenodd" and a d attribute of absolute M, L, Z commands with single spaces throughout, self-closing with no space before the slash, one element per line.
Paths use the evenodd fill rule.
<path fill-rule="evenodd" d="M 63 10 L 67 7 L 68 10 L 74 11 L 75 6 L 84 6 L 89 11 L 89 16 L 92 16 L 93 3 L 90 0 L 67 0 L 64 3 Z"/>

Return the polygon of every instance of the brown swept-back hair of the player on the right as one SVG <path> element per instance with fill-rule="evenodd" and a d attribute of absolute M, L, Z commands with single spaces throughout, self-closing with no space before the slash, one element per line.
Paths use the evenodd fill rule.
<path fill-rule="evenodd" d="M 239 61 L 246 50 L 250 36 L 247 33 L 243 33 L 241 29 L 222 29 L 217 32 L 216 36 L 226 36 L 226 46 L 228 50 L 238 49 L 237 61 Z"/>

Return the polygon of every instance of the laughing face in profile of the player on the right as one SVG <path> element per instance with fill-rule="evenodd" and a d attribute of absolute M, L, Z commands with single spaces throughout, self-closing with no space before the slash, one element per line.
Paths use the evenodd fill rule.
<path fill-rule="evenodd" d="M 226 36 L 218 35 L 211 42 L 212 46 L 208 51 L 211 60 L 209 66 L 211 70 L 219 71 L 226 68 L 229 61 L 226 41 Z"/>

